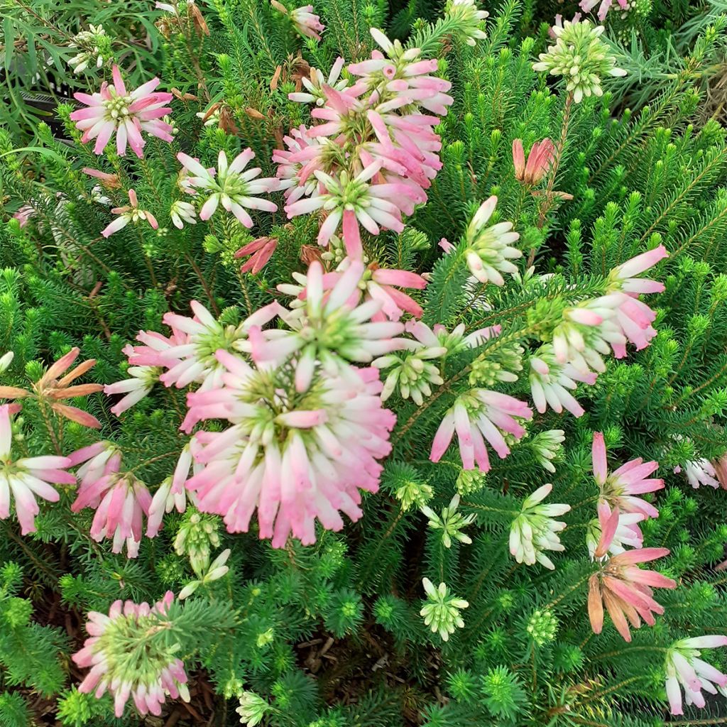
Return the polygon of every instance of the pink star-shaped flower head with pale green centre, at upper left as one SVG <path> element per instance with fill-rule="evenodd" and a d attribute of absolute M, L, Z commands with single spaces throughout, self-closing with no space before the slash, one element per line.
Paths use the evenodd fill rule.
<path fill-rule="evenodd" d="M 171 142 L 172 126 L 161 121 L 161 117 L 172 111 L 172 108 L 165 106 L 172 100 L 172 94 L 153 93 L 161 81 L 152 79 L 135 91 L 127 92 L 119 66 L 114 65 L 112 73 L 111 86 L 104 81 L 100 92 L 73 95 L 88 107 L 71 113 L 71 120 L 76 121 L 76 127 L 84 132 L 81 142 L 85 144 L 95 139 L 94 153 L 101 154 L 116 132 L 116 151 L 119 156 L 126 153 L 128 142 L 139 158 L 143 156 L 142 149 L 146 143 L 142 131 Z"/>

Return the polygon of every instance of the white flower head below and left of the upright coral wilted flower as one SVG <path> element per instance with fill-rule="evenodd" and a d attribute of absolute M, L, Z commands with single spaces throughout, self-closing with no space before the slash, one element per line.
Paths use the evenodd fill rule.
<path fill-rule="evenodd" d="M 465 258 L 470 273 L 483 284 L 505 285 L 501 273 L 515 275 L 518 268 L 510 260 L 523 256 L 523 252 L 512 246 L 520 238 L 513 232 L 512 222 L 499 222 L 486 227 L 495 206 L 497 197 L 491 196 L 480 205 L 470 225 L 467 227 L 467 250 Z"/>

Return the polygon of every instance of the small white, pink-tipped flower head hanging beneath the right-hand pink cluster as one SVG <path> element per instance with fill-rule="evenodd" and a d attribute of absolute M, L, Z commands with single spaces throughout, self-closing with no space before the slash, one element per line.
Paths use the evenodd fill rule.
<path fill-rule="evenodd" d="M 536 356 L 529 358 L 529 363 L 531 395 L 535 408 L 541 414 L 545 412 L 547 406 L 558 414 L 561 414 L 563 409 L 570 411 L 574 417 L 585 414 L 585 410 L 571 391 L 576 389 L 576 382 L 593 385 L 597 374 L 583 374 L 570 364 L 558 364 L 555 361 L 553 347 L 549 344 L 541 346 Z"/>

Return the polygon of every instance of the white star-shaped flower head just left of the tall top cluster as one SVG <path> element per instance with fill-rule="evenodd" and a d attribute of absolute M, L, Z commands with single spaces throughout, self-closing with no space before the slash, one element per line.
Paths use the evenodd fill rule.
<path fill-rule="evenodd" d="M 198 190 L 205 190 L 209 196 L 204 201 L 199 211 L 200 220 L 209 220 L 214 214 L 217 206 L 222 204 L 228 212 L 232 212 L 241 225 L 246 228 L 252 227 L 252 217 L 246 209 L 263 209 L 266 212 L 275 212 L 278 206 L 267 199 L 260 199 L 255 196 L 263 192 L 274 192 L 278 190 L 280 182 L 273 177 L 260 177 L 261 169 L 256 166 L 254 169 L 244 171 L 249 161 L 255 154 L 251 149 L 241 151 L 233 161 L 228 164 L 227 155 L 223 150 L 217 155 L 217 169 L 209 172 L 198 161 L 185 153 L 178 153 L 177 159 L 191 174 L 189 185 Z"/>

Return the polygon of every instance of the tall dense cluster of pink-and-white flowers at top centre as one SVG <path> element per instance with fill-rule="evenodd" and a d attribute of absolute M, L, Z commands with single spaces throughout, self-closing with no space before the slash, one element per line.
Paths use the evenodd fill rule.
<path fill-rule="evenodd" d="M 348 66 L 355 84 L 337 83 L 337 61 L 328 84 L 313 73 L 305 84 L 309 93 L 291 95 L 315 101 L 312 116 L 322 123 L 293 129 L 288 148 L 273 154 L 288 216 L 321 210 L 326 219 L 318 243 L 326 246 L 342 228 L 353 258 L 363 253 L 359 225 L 372 235 L 401 232 L 402 215 L 426 201 L 441 168 L 433 127 L 452 103 L 449 81 L 431 75 L 436 60 L 423 60 L 416 48 L 405 51 L 376 28 L 371 36 L 383 52 Z"/>

